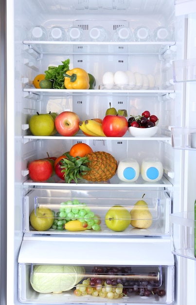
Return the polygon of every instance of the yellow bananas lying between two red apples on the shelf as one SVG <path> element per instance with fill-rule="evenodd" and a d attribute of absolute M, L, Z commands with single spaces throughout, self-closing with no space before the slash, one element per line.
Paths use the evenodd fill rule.
<path fill-rule="evenodd" d="M 106 136 L 103 132 L 101 119 L 90 119 L 79 122 L 79 128 L 87 136 Z"/>

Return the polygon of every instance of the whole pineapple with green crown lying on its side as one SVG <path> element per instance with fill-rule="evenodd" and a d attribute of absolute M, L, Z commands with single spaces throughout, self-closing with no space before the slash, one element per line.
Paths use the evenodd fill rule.
<path fill-rule="evenodd" d="M 117 161 L 108 152 L 90 152 L 84 157 L 72 157 L 69 152 L 62 161 L 65 182 L 78 179 L 88 181 L 107 181 L 116 173 Z"/>

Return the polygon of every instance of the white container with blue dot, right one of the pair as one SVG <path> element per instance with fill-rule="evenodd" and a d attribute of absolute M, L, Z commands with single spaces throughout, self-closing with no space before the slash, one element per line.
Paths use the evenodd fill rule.
<path fill-rule="evenodd" d="M 156 182 L 162 178 L 163 166 L 157 160 L 144 160 L 141 164 L 141 175 L 147 182 Z"/>

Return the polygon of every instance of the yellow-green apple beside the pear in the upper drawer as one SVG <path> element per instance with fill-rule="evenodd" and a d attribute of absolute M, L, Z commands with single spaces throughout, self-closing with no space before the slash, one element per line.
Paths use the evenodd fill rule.
<path fill-rule="evenodd" d="M 130 225 L 131 215 L 123 206 L 113 206 L 109 209 L 105 216 L 107 228 L 121 232 Z"/>

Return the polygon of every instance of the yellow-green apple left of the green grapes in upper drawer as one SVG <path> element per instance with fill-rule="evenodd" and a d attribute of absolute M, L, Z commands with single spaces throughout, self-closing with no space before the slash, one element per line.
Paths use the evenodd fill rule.
<path fill-rule="evenodd" d="M 53 225 L 54 215 L 51 209 L 37 208 L 30 214 L 30 223 L 37 231 L 46 231 Z"/>

